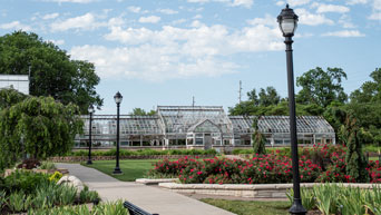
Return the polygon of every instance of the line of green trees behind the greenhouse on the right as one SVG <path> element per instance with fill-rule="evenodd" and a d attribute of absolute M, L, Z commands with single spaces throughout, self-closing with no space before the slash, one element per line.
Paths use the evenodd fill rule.
<path fill-rule="evenodd" d="M 381 68 L 370 74 L 372 80 L 365 81 L 350 95 L 344 92 L 342 81 L 346 74 L 341 68 L 316 67 L 296 78 L 302 89 L 295 95 L 296 115 L 323 116 L 335 129 L 338 139 L 344 137 L 345 119 L 338 113 L 344 113 L 355 119 L 361 144 L 381 143 Z M 282 98 L 274 87 L 261 88 L 247 92 L 247 100 L 229 108 L 231 115 L 281 116 L 289 115 L 287 98 Z M 343 114 L 342 114 L 343 115 Z"/>

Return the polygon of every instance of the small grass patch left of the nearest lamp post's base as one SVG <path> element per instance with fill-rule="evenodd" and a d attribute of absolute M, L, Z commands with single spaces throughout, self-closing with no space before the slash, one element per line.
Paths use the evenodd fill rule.
<path fill-rule="evenodd" d="M 287 215 L 289 202 L 246 202 L 204 198 L 202 202 L 237 215 Z"/>

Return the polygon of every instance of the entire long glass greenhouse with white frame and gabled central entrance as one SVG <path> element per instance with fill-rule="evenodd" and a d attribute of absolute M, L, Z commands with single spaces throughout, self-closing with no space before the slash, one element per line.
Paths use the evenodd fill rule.
<path fill-rule="evenodd" d="M 87 147 L 89 116 L 76 147 Z M 154 116 L 120 115 L 120 146 L 129 148 L 233 148 L 253 144 L 253 121 L 268 146 L 290 144 L 289 116 L 228 116 L 222 106 L 158 106 Z M 91 139 L 95 147 L 116 144 L 116 115 L 94 115 Z M 296 119 L 299 144 L 335 144 L 332 126 L 319 116 Z"/>

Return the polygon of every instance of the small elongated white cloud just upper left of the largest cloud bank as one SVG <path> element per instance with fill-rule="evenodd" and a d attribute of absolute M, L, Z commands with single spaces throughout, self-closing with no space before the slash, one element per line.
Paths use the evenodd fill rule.
<path fill-rule="evenodd" d="M 63 21 L 56 21 L 50 25 L 51 31 L 66 31 L 70 29 L 77 30 L 94 30 L 105 23 L 100 23 L 96 21 L 96 18 L 92 13 L 86 13 L 84 16 L 69 18 Z"/>

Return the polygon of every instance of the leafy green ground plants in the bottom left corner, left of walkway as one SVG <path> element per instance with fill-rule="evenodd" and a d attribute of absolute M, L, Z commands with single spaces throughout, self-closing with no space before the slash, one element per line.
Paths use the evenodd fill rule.
<path fill-rule="evenodd" d="M 0 177 L 0 214 L 22 213 L 29 209 L 78 205 L 99 201 L 96 192 L 85 187 L 81 192 L 69 185 L 57 185 L 62 175 L 16 170 Z"/>

